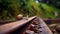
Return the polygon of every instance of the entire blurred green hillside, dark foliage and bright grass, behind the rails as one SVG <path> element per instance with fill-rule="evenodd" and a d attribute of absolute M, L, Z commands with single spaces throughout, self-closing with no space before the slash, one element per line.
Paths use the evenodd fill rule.
<path fill-rule="evenodd" d="M 59 2 L 57 4 L 60 6 Z M 37 15 L 43 18 L 55 18 L 54 11 L 60 12 L 55 7 L 36 3 L 32 0 L 0 0 L 0 19 L 15 19 L 18 14 L 28 15 L 29 17 Z"/>

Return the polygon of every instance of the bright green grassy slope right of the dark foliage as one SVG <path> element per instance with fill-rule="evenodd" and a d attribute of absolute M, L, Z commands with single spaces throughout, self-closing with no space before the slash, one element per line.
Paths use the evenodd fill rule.
<path fill-rule="evenodd" d="M 39 7 L 40 4 L 44 8 L 45 13 L 41 10 L 41 7 Z M 29 0 L 27 7 L 31 7 L 31 6 L 33 6 L 34 9 L 36 10 L 35 11 L 36 15 L 41 17 L 41 18 L 55 18 L 54 12 L 55 11 L 60 12 L 60 9 L 57 9 L 57 8 L 55 8 L 53 6 L 49 6 L 49 5 L 45 4 L 45 3 L 36 3 L 36 2 L 34 2 L 32 0 Z M 33 14 L 33 12 L 32 12 L 32 14 Z"/>

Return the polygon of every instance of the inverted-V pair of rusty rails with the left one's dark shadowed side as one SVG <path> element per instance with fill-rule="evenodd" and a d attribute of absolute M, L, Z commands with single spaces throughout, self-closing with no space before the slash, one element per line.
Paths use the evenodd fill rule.
<path fill-rule="evenodd" d="M 40 25 L 43 27 L 43 33 L 52 34 L 48 26 L 43 22 L 42 19 L 37 18 L 36 16 L 28 18 L 28 20 L 23 19 L 20 21 L 4 24 L 0 26 L 0 34 L 24 34 L 23 32 L 31 25 L 32 21 L 38 19 Z"/>

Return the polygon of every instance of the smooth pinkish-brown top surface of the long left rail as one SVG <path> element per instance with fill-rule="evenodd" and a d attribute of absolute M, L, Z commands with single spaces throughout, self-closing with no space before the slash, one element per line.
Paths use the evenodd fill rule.
<path fill-rule="evenodd" d="M 30 18 L 28 18 L 28 20 L 23 19 L 20 21 L 1 25 L 0 26 L 0 34 L 5 34 L 8 32 L 14 31 L 14 30 L 18 29 L 19 27 L 23 26 L 24 24 L 29 23 L 29 21 L 32 21 L 35 18 L 36 18 L 36 16 L 30 17 Z"/>

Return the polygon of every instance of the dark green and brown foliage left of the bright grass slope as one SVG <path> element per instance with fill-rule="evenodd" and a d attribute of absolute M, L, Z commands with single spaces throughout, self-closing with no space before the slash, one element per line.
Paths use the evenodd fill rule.
<path fill-rule="evenodd" d="M 29 4 L 32 0 L 0 0 L 0 19 L 16 17 L 18 14 L 33 16 L 34 10 Z"/>

